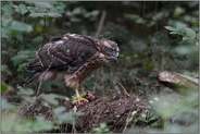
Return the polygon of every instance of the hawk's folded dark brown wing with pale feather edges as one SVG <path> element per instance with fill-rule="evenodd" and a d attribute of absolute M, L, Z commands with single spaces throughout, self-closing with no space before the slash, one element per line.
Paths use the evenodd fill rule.
<path fill-rule="evenodd" d="M 46 70 L 73 73 L 97 52 L 96 42 L 89 37 L 66 34 L 53 38 L 37 52 L 37 59 L 27 69 L 42 72 Z"/>

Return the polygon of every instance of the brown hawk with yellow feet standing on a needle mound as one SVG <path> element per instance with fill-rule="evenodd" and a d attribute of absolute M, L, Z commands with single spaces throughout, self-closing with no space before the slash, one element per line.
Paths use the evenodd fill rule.
<path fill-rule="evenodd" d="M 39 82 L 54 78 L 74 88 L 78 102 L 88 101 L 78 93 L 83 80 L 97 68 L 117 60 L 118 51 L 117 44 L 112 40 L 67 33 L 52 38 L 38 50 L 37 58 L 27 65 L 33 73 L 17 87 L 35 78 Z"/>

